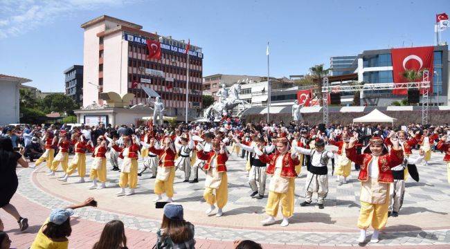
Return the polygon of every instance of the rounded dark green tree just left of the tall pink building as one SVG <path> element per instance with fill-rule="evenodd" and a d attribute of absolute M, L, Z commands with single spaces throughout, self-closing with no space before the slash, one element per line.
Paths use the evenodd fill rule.
<path fill-rule="evenodd" d="M 73 115 L 73 110 L 79 108 L 78 104 L 73 102 L 69 96 L 61 93 L 46 95 L 44 100 L 42 100 L 42 104 L 45 113 L 56 111 L 59 113 L 66 112 L 67 115 Z"/>

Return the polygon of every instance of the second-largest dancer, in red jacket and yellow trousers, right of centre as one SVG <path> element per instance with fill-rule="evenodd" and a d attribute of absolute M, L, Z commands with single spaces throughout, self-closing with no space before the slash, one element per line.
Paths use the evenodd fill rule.
<path fill-rule="evenodd" d="M 289 145 L 286 138 L 279 140 L 282 140 L 282 143 L 286 147 Z M 287 148 L 287 152 L 284 154 L 278 150 L 276 153 L 270 155 L 263 154 L 258 148 L 255 151 L 263 163 L 269 163 L 266 174 L 272 176 L 266 205 L 266 214 L 269 217 L 261 221 L 261 223 L 275 223 L 278 207 L 281 205 L 281 213 L 283 216 L 281 226 L 287 226 L 289 225 L 289 217 L 294 214 L 295 178 L 297 177 L 295 166 L 299 163 L 297 155 L 291 154 Z"/>

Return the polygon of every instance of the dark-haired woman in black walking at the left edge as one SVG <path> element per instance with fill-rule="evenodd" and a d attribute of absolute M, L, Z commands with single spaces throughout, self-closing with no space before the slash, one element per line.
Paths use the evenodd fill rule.
<path fill-rule="evenodd" d="M 22 218 L 10 201 L 19 185 L 16 173 L 17 163 L 21 167 L 28 167 L 28 162 L 22 156 L 24 151 L 24 147 L 20 147 L 19 152 L 13 151 L 11 139 L 0 138 L 0 208 L 17 219 L 21 231 L 28 228 L 28 219 Z"/>

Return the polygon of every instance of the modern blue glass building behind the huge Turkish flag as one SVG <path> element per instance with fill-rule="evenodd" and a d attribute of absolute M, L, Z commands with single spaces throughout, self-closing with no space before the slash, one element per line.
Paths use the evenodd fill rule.
<path fill-rule="evenodd" d="M 390 49 L 364 50 L 358 55 L 357 68 L 359 82 L 388 83 L 393 82 L 393 63 Z M 433 93 L 429 96 L 431 105 L 450 104 L 449 94 L 449 48 L 447 45 L 434 46 L 433 55 Z M 370 95 L 368 92 L 366 95 Z M 373 93 L 379 97 L 378 105 L 389 105 L 393 100 L 402 99 L 392 91 L 379 91 Z M 439 98 L 438 98 L 439 96 Z"/>

